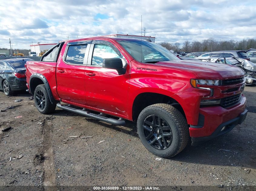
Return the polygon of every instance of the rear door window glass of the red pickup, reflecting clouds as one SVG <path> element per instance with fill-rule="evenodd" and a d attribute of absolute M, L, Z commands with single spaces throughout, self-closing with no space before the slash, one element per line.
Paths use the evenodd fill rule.
<path fill-rule="evenodd" d="M 87 44 L 68 46 L 65 62 L 82 65 L 84 63 L 86 48 Z"/>

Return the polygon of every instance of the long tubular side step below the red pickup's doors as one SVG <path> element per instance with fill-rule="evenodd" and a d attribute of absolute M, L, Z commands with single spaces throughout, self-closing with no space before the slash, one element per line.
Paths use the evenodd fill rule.
<path fill-rule="evenodd" d="M 113 119 L 113 118 L 109 118 L 109 117 L 104 117 L 102 115 L 98 115 L 98 114 L 94 114 L 94 113 L 90 113 L 88 111 L 86 111 L 85 109 L 76 109 L 73 108 L 71 105 L 62 105 L 60 103 L 57 103 L 56 105 L 58 108 L 61 108 L 63 110 L 67 110 L 67 111 L 71 111 L 86 117 L 91 117 L 93 119 L 98 119 L 99 121 L 105 121 L 107 123 L 111 123 L 113 125 L 125 125 L 125 121 L 120 119 Z"/>

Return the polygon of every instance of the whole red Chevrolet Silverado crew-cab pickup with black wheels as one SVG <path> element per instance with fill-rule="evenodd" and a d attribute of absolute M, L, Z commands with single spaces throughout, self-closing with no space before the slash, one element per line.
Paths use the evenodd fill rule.
<path fill-rule="evenodd" d="M 181 60 L 147 40 L 69 40 L 26 68 L 39 112 L 57 105 L 115 125 L 137 121 L 142 144 L 161 157 L 181 152 L 189 137 L 198 145 L 223 135 L 247 114 L 240 68 Z"/>

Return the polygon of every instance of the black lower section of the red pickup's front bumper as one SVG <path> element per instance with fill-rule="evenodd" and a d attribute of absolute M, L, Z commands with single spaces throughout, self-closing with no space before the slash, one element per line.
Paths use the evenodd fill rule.
<path fill-rule="evenodd" d="M 246 118 L 248 110 L 244 110 L 238 117 L 231 119 L 227 122 L 221 123 L 216 130 L 210 135 L 205 137 L 191 137 L 192 146 L 199 145 L 203 142 L 209 141 L 215 137 L 223 135 L 229 131 L 231 131 L 236 125 L 243 123 Z"/>

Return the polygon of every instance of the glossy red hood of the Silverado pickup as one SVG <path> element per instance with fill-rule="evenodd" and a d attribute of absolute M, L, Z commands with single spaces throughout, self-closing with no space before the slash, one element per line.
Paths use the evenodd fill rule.
<path fill-rule="evenodd" d="M 238 78 L 244 75 L 244 71 L 236 66 L 197 60 L 171 60 L 157 62 L 156 65 L 193 72 L 201 79 L 223 80 L 228 78 Z"/>

